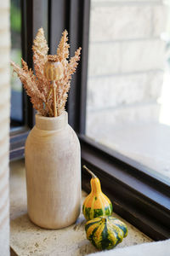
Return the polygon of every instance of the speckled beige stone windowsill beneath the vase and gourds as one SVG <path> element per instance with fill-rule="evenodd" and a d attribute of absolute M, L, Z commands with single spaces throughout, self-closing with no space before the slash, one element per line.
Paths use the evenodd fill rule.
<path fill-rule="evenodd" d="M 82 191 L 82 201 L 86 195 Z M 116 213 L 113 213 L 113 216 L 122 219 Z M 24 160 L 10 164 L 10 219 L 10 247 L 13 255 L 78 256 L 97 252 L 86 239 L 82 213 L 76 224 L 62 230 L 44 230 L 31 223 L 26 212 Z M 127 221 L 123 221 L 127 224 L 128 236 L 117 247 L 152 241 Z"/>

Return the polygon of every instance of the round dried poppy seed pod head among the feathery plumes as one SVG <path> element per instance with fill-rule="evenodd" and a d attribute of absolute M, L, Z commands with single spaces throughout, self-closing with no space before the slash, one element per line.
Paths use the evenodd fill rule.
<path fill-rule="evenodd" d="M 64 68 L 61 62 L 48 59 L 45 63 L 43 72 L 48 81 L 57 81 L 62 79 Z"/>

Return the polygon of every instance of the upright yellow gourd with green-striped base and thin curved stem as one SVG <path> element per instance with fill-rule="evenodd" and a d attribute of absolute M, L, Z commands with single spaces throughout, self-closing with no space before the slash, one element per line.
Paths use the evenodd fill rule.
<path fill-rule="evenodd" d="M 91 193 L 86 197 L 82 205 L 84 217 L 89 220 L 99 216 L 111 216 L 112 204 L 109 198 L 101 191 L 99 178 L 86 166 L 83 166 L 91 175 Z"/>

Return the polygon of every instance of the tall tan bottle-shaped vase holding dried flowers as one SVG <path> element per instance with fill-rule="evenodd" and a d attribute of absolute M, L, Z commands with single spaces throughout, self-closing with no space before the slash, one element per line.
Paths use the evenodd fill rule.
<path fill-rule="evenodd" d="M 66 112 L 58 117 L 36 115 L 26 140 L 27 207 L 31 221 L 48 229 L 73 224 L 80 213 L 80 143 L 68 125 Z"/>

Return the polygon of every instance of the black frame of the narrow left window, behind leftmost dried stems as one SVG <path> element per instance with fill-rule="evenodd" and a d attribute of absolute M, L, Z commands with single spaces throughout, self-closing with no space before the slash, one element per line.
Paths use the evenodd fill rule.
<path fill-rule="evenodd" d="M 27 62 L 28 67 L 32 69 L 33 62 L 31 47 L 38 28 L 42 26 L 42 4 L 41 0 L 20 1 L 22 58 Z M 35 110 L 32 108 L 30 98 L 26 95 L 26 91 L 24 89 L 22 89 L 22 105 L 23 123 L 18 126 L 17 129 L 11 129 L 10 131 L 10 160 L 24 157 L 26 137 L 35 124 Z"/>

